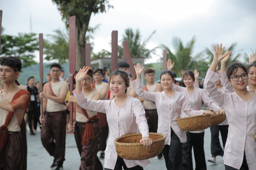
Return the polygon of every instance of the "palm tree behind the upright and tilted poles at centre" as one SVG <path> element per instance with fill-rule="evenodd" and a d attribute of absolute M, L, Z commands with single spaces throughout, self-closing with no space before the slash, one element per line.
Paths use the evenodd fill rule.
<path fill-rule="evenodd" d="M 150 40 L 150 38 L 155 32 L 156 31 L 153 31 L 153 33 L 151 33 L 146 40 L 141 41 L 141 35 L 139 30 L 136 30 L 136 33 L 134 33 L 132 28 L 125 29 L 122 41 L 127 41 L 127 45 L 132 58 L 150 58 L 152 54 L 155 54 L 156 48 L 158 47 L 155 47 L 153 49 L 148 49 L 146 47 L 148 44 L 148 41 Z M 123 57 L 123 50 L 124 49 L 123 49 L 123 43 L 122 43 L 121 46 L 117 47 L 119 58 Z M 100 58 L 111 57 L 111 52 L 105 49 L 102 49 L 98 54 L 93 53 L 92 58 L 97 58 L 97 57 L 100 57 Z"/>

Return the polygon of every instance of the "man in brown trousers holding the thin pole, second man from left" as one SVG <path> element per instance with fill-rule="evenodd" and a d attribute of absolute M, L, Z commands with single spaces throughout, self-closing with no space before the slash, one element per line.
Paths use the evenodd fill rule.
<path fill-rule="evenodd" d="M 40 92 L 39 97 L 43 98 L 43 113 L 40 116 L 42 123 L 41 141 L 46 151 L 54 157 L 51 168 L 63 169 L 65 160 L 66 140 L 66 104 L 65 99 L 68 93 L 68 84 L 60 80 L 61 66 L 53 63 L 50 66 L 49 74 L 52 81 L 47 82 Z"/>

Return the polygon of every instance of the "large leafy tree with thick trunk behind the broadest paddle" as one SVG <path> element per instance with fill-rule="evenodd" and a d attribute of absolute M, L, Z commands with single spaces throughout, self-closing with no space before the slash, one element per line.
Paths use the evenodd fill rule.
<path fill-rule="evenodd" d="M 109 0 L 52 0 L 57 5 L 68 28 L 68 18 L 76 16 L 76 69 L 85 63 L 85 34 L 88 31 L 92 13 L 106 12 L 113 7 Z"/>

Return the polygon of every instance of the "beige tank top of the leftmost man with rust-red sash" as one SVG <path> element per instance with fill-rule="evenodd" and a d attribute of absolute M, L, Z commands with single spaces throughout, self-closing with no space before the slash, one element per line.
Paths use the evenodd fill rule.
<path fill-rule="evenodd" d="M 1 92 L 2 92 L 2 90 L 0 91 L 0 100 L 3 100 Z M 8 113 L 8 111 L 0 109 L 0 126 L 4 125 L 7 113 Z M 19 126 L 18 119 L 17 119 L 15 113 L 13 113 L 12 120 L 7 125 L 7 128 L 8 128 L 9 131 L 12 131 L 12 132 L 19 132 L 20 131 L 20 126 Z"/>

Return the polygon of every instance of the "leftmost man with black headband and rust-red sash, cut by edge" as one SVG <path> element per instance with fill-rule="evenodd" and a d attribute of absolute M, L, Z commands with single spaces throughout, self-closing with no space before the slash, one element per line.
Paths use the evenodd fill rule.
<path fill-rule="evenodd" d="M 20 126 L 30 102 L 30 94 L 18 87 L 20 70 L 19 58 L 0 58 L 0 75 L 4 83 L 4 89 L 0 91 L 0 169 L 4 170 L 26 169 L 25 141 Z"/>

